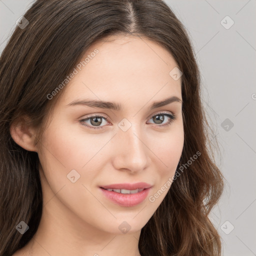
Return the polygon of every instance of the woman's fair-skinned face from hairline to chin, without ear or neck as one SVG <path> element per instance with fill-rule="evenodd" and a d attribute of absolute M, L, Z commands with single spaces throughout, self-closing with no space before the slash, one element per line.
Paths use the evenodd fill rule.
<path fill-rule="evenodd" d="M 170 76 L 177 64 L 155 42 L 108 38 L 91 45 L 62 88 L 41 137 L 40 177 L 44 201 L 53 194 L 60 215 L 105 232 L 135 232 L 162 202 L 181 156 L 181 78 Z M 147 185 L 129 186 L 137 182 Z M 100 188 L 119 183 L 126 189 Z M 139 187 L 148 188 L 124 194 Z"/>

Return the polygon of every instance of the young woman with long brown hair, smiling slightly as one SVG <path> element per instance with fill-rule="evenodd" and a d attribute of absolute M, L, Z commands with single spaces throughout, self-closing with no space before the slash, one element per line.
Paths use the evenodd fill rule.
<path fill-rule="evenodd" d="M 220 255 L 223 177 L 165 2 L 35 1 L 0 91 L 1 256 Z"/>

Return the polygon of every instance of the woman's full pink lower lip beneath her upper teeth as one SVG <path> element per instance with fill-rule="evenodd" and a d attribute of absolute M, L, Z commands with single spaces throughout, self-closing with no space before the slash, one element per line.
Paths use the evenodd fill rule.
<path fill-rule="evenodd" d="M 109 200 L 113 201 L 114 203 L 121 206 L 129 207 L 129 206 L 135 206 L 141 203 L 147 197 L 150 188 L 151 187 L 145 188 L 142 191 L 134 194 L 117 193 L 114 191 L 108 191 L 101 187 L 100 187 L 100 190 Z"/>

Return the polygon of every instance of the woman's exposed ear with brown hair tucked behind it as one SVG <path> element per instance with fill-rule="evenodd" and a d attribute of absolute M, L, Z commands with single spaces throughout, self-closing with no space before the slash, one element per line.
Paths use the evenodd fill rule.
<path fill-rule="evenodd" d="M 34 145 L 36 129 L 31 126 L 31 120 L 27 116 L 22 116 L 10 125 L 10 135 L 13 140 L 28 151 L 37 152 Z"/>

